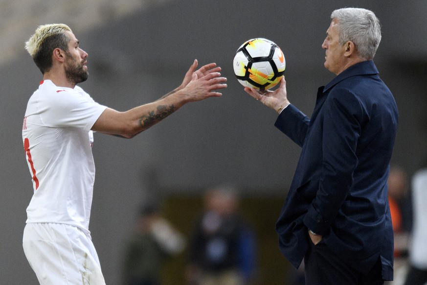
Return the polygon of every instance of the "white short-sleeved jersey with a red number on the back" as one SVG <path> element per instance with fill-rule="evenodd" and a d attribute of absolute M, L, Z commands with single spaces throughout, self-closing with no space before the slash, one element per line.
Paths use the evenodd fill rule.
<path fill-rule="evenodd" d="M 22 125 L 34 189 L 27 223 L 63 223 L 89 232 L 95 179 L 90 129 L 106 108 L 80 87 L 50 80 L 30 97 Z"/>

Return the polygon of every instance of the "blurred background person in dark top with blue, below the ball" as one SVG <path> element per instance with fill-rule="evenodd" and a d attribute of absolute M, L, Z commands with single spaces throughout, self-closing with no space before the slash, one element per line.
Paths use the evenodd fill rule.
<path fill-rule="evenodd" d="M 239 214 L 236 190 L 207 190 L 205 211 L 189 242 L 190 285 L 250 285 L 256 280 L 256 238 Z"/>

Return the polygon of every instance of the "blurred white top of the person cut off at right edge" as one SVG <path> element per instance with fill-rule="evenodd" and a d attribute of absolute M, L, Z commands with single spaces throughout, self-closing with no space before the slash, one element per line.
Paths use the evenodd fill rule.
<path fill-rule="evenodd" d="M 415 173 L 412 178 L 413 229 L 409 247 L 411 263 L 427 269 L 427 169 Z"/>

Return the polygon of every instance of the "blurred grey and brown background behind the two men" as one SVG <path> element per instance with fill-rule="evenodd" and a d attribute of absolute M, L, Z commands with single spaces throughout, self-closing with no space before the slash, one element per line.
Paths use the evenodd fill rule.
<path fill-rule="evenodd" d="M 1 0 L 0 1 L 0 284 L 37 284 L 22 251 L 32 185 L 22 118 L 42 79 L 24 42 L 40 24 L 68 24 L 89 53 L 80 86 L 119 111 L 156 100 L 180 85 L 193 60 L 216 62 L 228 78 L 220 98 L 185 105 L 132 140 L 95 134 L 96 179 L 90 231 L 107 284 L 122 284 L 124 244 L 139 207 L 156 201 L 185 237 L 204 190 L 231 183 L 255 228 L 258 284 L 289 284 L 275 220 L 300 149 L 273 126 L 276 113 L 244 91 L 232 69 L 236 49 L 264 37 L 286 58 L 288 97 L 308 116 L 317 88 L 334 74 L 321 44 L 331 12 L 373 10 L 382 23 L 375 57 L 399 111 L 393 165 L 411 176 L 427 157 L 427 0 Z M 163 284 L 185 284 L 186 251 L 167 261 Z"/>

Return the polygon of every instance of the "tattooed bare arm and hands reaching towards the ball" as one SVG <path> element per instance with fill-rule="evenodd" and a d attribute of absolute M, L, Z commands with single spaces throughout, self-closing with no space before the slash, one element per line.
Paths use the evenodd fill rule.
<path fill-rule="evenodd" d="M 94 123 L 92 130 L 124 138 L 133 138 L 165 119 L 186 103 L 221 96 L 222 94 L 216 91 L 227 87 L 225 84 L 227 79 L 221 77 L 219 72 L 221 68 L 216 67 L 215 63 L 205 65 L 198 71 L 195 71 L 196 68 L 197 61 L 185 74 L 180 87 L 157 101 L 135 107 L 126 112 L 107 108 Z"/>

